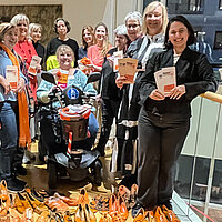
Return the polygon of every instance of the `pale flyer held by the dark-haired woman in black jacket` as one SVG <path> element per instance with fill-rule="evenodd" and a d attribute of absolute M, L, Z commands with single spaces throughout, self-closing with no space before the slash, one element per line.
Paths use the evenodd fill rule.
<path fill-rule="evenodd" d="M 165 97 L 176 87 L 175 67 L 163 68 L 154 73 L 158 90 Z"/>

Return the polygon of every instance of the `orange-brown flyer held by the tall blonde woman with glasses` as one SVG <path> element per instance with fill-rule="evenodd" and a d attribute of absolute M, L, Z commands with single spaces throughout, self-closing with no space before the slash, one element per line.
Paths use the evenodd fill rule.
<path fill-rule="evenodd" d="M 138 60 L 132 58 L 118 59 L 120 77 L 125 77 L 124 84 L 134 82 L 134 74 L 137 72 Z"/>

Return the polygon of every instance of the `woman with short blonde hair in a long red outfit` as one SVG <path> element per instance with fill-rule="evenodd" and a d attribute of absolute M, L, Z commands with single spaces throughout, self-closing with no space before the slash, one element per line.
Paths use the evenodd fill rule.
<path fill-rule="evenodd" d="M 34 141 L 36 132 L 37 132 L 37 117 L 34 117 L 34 110 L 37 108 L 37 74 L 34 71 L 36 69 L 31 69 L 32 71 L 29 71 L 30 64 L 32 62 L 32 58 L 37 57 L 36 49 L 29 39 L 29 18 L 26 14 L 16 14 L 11 19 L 11 23 L 18 28 L 18 42 L 14 46 L 14 51 L 20 56 L 20 67 L 22 73 L 27 77 L 29 80 L 29 83 L 27 84 L 27 94 L 28 94 L 28 102 L 29 102 L 29 114 L 30 114 L 30 132 L 31 132 L 31 139 Z M 40 63 L 39 63 L 40 68 Z M 40 70 L 40 69 L 39 69 Z M 26 151 L 26 152 L 24 152 Z M 16 164 L 16 171 L 17 173 L 21 175 L 27 174 L 27 170 L 22 167 L 23 163 L 30 163 L 30 159 L 34 159 L 34 155 L 24 150 L 24 149 L 18 149 L 17 153 L 17 164 Z"/>

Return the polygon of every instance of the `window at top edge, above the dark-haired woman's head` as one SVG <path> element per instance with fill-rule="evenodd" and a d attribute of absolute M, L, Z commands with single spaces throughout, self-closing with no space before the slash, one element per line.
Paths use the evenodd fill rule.
<path fill-rule="evenodd" d="M 168 0 L 169 13 L 202 13 L 203 0 Z"/>

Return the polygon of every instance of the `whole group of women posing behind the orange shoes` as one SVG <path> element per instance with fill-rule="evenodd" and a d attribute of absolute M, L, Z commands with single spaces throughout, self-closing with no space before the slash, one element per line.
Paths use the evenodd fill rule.
<path fill-rule="evenodd" d="M 27 101 L 33 98 L 36 107 L 38 101 L 48 103 L 52 88 L 44 80 L 38 87 L 37 77 L 27 72 L 32 56 L 38 54 L 48 70 L 67 70 L 72 77 L 69 84 L 98 93 L 102 101 L 102 123 L 94 150 L 101 157 L 105 154 L 105 143 L 115 119 L 115 154 L 111 169 L 124 176 L 121 184 L 138 184 L 132 214 L 141 208 L 152 210 L 154 205 L 164 204 L 171 209 L 174 167 L 190 129 L 190 103 L 205 91 L 215 92 L 218 87 L 206 57 L 189 48 L 195 42 L 190 22 L 182 16 L 169 21 L 165 6 L 153 1 L 143 16 L 137 11 L 125 16 L 124 24 L 114 30 L 114 46 L 109 42 L 107 26 L 100 22 L 94 29 L 83 27 L 82 47 L 79 48 L 77 41 L 68 37 L 70 23 L 59 18 L 54 21 L 58 37 L 46 50 L 39 43 L 41 26 L 30 24 L 30 32 L 28 27 L 29 20 L 23 14 L 0 24 L 0 179 L 6 180 L 11 190 L 19 191 L 26 185 L 16 173 L 21 170 L 23 148 L 31 142 Z M 112 56 L 117 51 L 138 60 L 134 83 L 125 84 L 125 78 L 113 70 Z M 85 73 L 77 68 L 78 60 L 84 57 L 90 60 L 85 64 L 87 73 L 101 73 L 98 92 L 91 84 L 85 87 Z M 11 89 L 6 79 L 7 65 L 18 68 L 16 89 Z M 175 67 L 176 87 L 164 94 L 157 87 L 154 72 L 167 67 Z M 90 122 L 91 134 L 95 137 L 98 125 L 93 115 Z M 49 125 L 47 117 L 40 124 L 40 140 L 46 147 L 54 144 Z"/>

